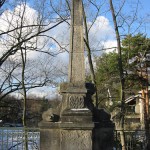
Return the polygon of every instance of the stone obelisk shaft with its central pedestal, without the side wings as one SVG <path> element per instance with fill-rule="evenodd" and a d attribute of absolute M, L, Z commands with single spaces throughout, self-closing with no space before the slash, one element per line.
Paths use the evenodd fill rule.
<path fill-rule="evenodd" d="M 92 150 L 92 113 L 85 83 L 82 0 L 72 0 L 69 81 L 60 87 L 63 150 Z"/>

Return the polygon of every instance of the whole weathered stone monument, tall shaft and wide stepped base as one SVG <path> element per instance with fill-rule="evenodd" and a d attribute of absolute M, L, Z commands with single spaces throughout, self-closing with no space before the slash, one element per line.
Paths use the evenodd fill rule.
<path fill-rule="evenodd" d="M 103 134 L 108 137 L 100 121 L 110 116 L 97 117 L 99 110 L 91 102 L 94 85 L 85 83 L 82 7 L 82 0 L 72 0 L 69 81 L 60 85 L 61 104 L 42 115 L 40 150 L 99 150 Z"/>

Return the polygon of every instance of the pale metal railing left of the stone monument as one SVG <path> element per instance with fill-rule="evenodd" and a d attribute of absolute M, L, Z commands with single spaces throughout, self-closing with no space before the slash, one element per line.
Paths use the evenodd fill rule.
<path fill-rule="evenodd" d="M 27 145 L 27 148 L 25 148 Z M 40 132 L 37 128 L 0 128 L 0 150 L 39 150 Z"/>

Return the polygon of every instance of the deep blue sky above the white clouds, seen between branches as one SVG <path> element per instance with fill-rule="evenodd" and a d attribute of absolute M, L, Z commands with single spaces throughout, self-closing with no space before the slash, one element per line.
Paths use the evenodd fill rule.
<path fill-rule="evenodd" d="M 41 9 L 41 11 L 45 11 L 45 15 L 46 17 L 49 17 L 49 12 L 51 11 L 50 10 L 50 3 L 49 3 L 49 0 L 45 0 L 46 3 L 45 5 L 43 5 L 43 9 Z M 88 1 L 88 0 L 83 0 L 85 3 Z M 93 0 L 94 2 L 95 0 Z M 115 10 L 118 10 L 119 7 L 121 6 L 122 2 L 124 0 L 113 0 L 113 3 L 114 3 L 114 7 L 115 7 Z M 14 2 L 14 0 L 10 0 L 10 2 Z M 27 3 L 33 7 L 34 9 L 38 9 L 38 6 L 41 6 L 41 3 L 42 1 L 40 0 L 27 0 Z M 58 9 L 63 9 L 63 4 L 65 2 L 65 0 L 52 0 L 52 2 L 54 3 L 54 7 L 58 7 Z M 143 25 L 140 27 L 140 32 L 144 32 L 145 34 L 147 34 L 148 37 L 150 37 L 150 1 L 149 0 L 126 0 L 125 1 L 125 5 L 122 9 L 122 13 L 125 14 L 126 16 L 127 15 L 133 15 L 132 11 L 135 11 L 135 7 L 137 6 L 137 2 L 139 2 L 139 5 L 138 5 L 138 18 L 140 17 L 144 17 L 144 21 L 143 21 Z M 99 16 L 105 16 L 106 18 L 108 18 L 108 20 L 110 21 L 110 24 L 111 26 L 113 27 L 113 22 L 112 22 L 112 17 L 111 17 L 111 14 L 110 12 L 108 12 L 107 10 L 109 9 L 109 0 L 96 0 L 96 3 L 99 4 L 99 5 L 102 5 L 102 7 L 100 8 L 100 13 L 99 13 Z M 9 7 L 11 8 L 11 6 Z M 90 20 L 90 18 L 94 17 L 95 15 L 95 8 L 90 5 L 90 7 L 86 6 L 87 10 L 87 15 L 88 16 L 88 19 Z M 90 8 L 90 9 L 89 9 Z M 104 13 L 105 12 L 105 13 Z M 93 15 L 91 15 L 91 13 L 93 13 Z M 149 14 L 149 18 L 146 17 L 147 15 Z M 55 16 L 57 16 L 55 14 Z M 54 16 L 53 16 L 54 17 Z M 132 29 L 136 28 L 138 26 L 138 23 L 134 23 L 134 26 L 132 26 Z M 127 28 L 127 26 L 125 25 L 124 28 Z M 125 29 L 127 31 L 127 29 Z M 124 31 L 123 31 L 124 32 Z"/>

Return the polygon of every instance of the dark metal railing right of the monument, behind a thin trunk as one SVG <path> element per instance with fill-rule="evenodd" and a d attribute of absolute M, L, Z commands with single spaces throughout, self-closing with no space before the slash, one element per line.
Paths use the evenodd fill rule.
<path fill-rule="evenodd" d="M 114 132 L 114 149 L 121 150 L 120 130 Z M 127 150 L 144 150 L 146 137 L 144 130 L 125 130 L 125 142 Z"/>

